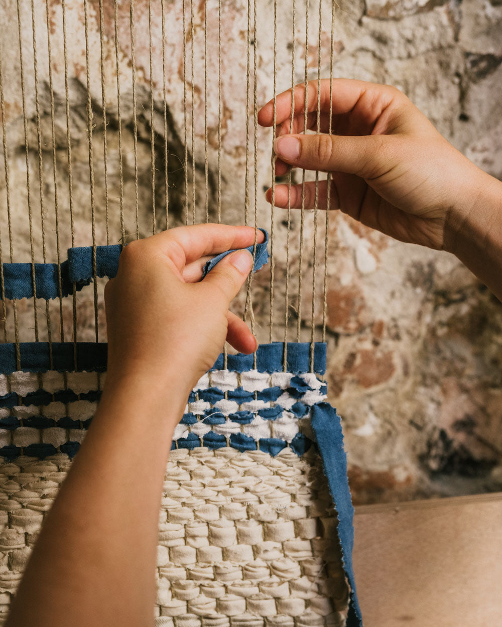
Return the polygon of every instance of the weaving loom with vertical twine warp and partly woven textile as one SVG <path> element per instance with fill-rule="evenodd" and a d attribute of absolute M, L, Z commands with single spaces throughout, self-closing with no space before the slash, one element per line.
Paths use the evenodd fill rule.
<path fill-rule="evenodd" d="M 318 173 L 314 211 L 304 197 L 299 212 L 274 209 L 257 122 L 259 97 L 333 74 L 321 41 L 333 42 L 334 4 L 314 4 L 293 0 L 279 19 L 277 0 L 0 2 L 0 616 L 100 398 L 103 288 L 122 246 L 218 221 L 269 231 L 270 263 L 235 303 L 265 343 L 254 356 L 225 349 L 174 433 L 156 624 L 361 624 L 323 377 L 328 212 Z M 272 36 L 267 66 L 260 41 Z"/>

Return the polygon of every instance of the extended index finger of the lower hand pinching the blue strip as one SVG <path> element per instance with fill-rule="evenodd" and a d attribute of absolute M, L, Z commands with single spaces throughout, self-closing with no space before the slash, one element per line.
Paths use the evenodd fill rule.
<path fill-rule="evenodd" d="M 255 230 L 254 226 L 192 224 L 151 235 L 144 241 L 159 246 L 159 250 L 181 271 L 187 263 L 203 256 L 218 255 L 227 250 L 252 246 L 255 238 L 259 244 L 265 240 L 262 231 Z"/>

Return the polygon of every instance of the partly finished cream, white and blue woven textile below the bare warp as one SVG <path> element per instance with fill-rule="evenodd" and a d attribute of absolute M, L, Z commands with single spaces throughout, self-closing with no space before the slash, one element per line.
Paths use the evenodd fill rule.
<path fill-rule="evenodd" d="M 326 384 L 309 372 L 310 348 L 287 345 L 289 372 L 284 344 L 260 346 L 255 369 L 252 356 L 228 356 L 227 369 L 220 357 L 191 392 L 164 482 L 159 627 L 359 624 L 341 428 Z M 321 372 L 325 348 L 314 350 Z M 105 381 L 40 372 L 44 349 L 30 350 L 27 372 L 0 375 L 4 616 Z M 320 448 L 316 429 L 325 429 Z"/>

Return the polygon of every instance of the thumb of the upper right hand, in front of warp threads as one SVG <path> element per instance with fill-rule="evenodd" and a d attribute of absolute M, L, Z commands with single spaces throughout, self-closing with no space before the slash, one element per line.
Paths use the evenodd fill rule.
<path fill-rule="evenodd" d="M 390 135 L 282 135 L 274 141 L 281 161 L 306 170 L 374 178 L 392 167 Z"/>

